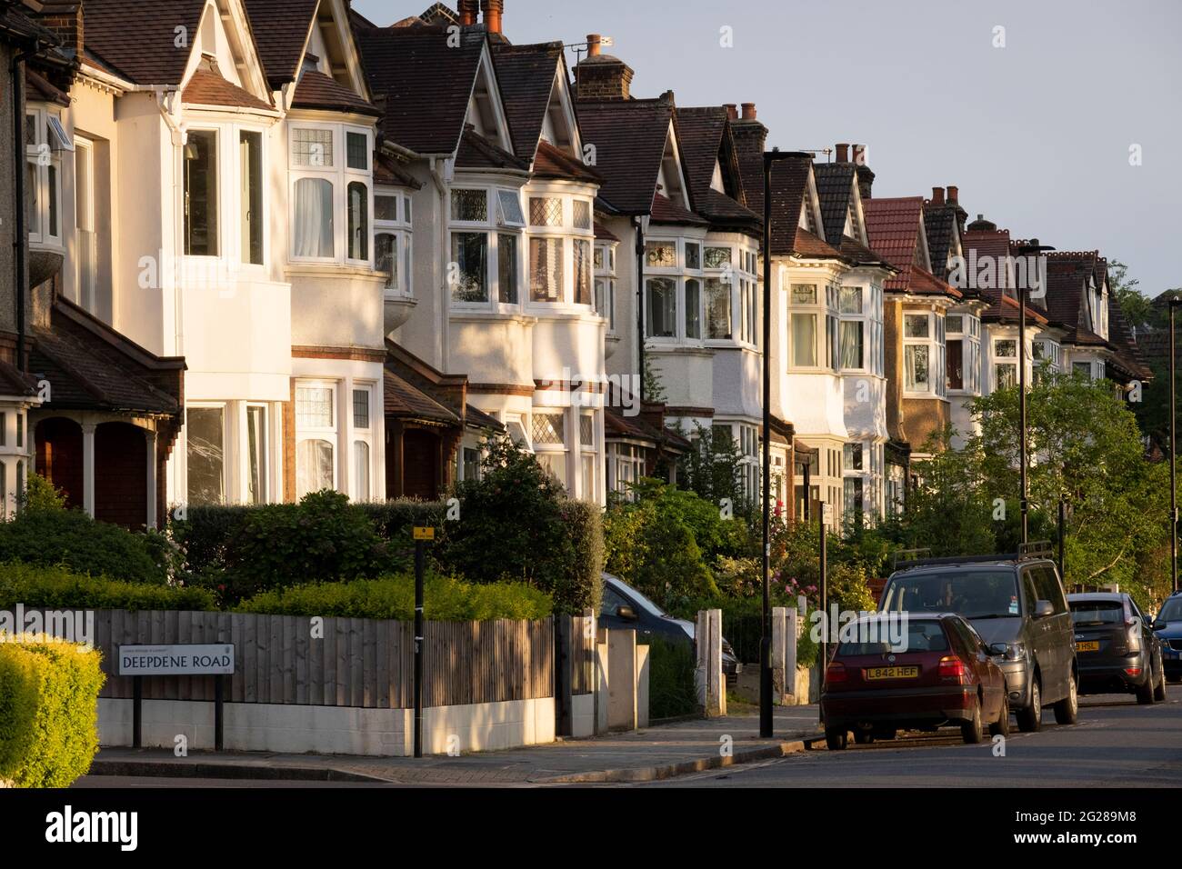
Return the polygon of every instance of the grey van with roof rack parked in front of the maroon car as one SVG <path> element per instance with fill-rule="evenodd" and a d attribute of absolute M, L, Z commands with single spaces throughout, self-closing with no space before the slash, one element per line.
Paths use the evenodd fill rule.
<path fill-rule="evenodd" d="M 883 589 L 881 610 L 959 612 L 1001 653 L 1009 706 L 1020 731 L 1054 720 L 1074 724 L 1079 672 L 1074 634 L 1059 571 L 1048 558 L 972 556 L 904 563 Z"/>

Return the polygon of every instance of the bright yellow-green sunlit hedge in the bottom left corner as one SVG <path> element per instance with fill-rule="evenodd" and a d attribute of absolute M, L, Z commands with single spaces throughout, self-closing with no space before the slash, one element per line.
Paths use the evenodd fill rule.
<path fill-rule="evenodd" d="M 53 640 L 0 643 L 0 779 L 67 787 L 86 774 L 98 751 L 99 660 Z"/>

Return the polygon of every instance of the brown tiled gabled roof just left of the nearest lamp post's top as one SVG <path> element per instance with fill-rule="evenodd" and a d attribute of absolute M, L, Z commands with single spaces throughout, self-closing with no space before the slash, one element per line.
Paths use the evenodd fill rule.
<path fill-rule="evenodd" d="M 727 109 L 709 105 L 677 109 L 677 143 L 694 210 L 712 226 L 759 229 L 764 219 L 740 201 L 742 183 Z M 725 192 L 714 189 L 714 168 L 722 170 Z"/>

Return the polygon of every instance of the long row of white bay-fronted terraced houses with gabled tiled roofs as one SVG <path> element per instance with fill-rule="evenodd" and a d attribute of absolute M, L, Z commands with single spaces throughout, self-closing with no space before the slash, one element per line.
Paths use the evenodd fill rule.
<path fill-rule="evenodd" d="M 1021 240 L 956 187 L 876 197 L 864 144 L 775 163 L 764 311 L 755 105 L 634 95 L 598 35 L 569 64 L 507 24 L 0 0 L 4 512 L 33 469 L 129 526 L 431 499 L 495 433 L 599 504 L 729 435 L 756 498 L 766 358 L 774 498 L 873 521 L 1019 359 L 1148 376 L 1100 253 L 1048 258 L 1020 354 Z"/>

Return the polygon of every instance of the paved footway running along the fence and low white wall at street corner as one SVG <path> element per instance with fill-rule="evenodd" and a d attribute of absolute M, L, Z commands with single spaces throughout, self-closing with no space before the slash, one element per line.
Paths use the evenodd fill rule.
<path fill-rule="evenodd" d="M 543 785 L 645 783 L 804 752 L 821 740 L 816 706 L 777 707 L 774 738 L 759 738 L 755 707 L 590 739 L 474 752 L 457 757 L 369 758 L 261 752 L 100 748 L 76 786 L 125 785 L 143 778 L 228 784 L 268 782 L 370 785 Z M 163 784 L 163 783 L 162 783 Z"/>

